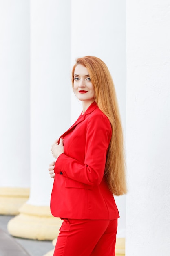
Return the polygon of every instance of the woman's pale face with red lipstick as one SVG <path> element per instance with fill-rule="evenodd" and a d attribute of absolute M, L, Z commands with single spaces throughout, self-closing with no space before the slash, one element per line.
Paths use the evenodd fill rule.
<path fill-rule="evenodd" d="M 80 101 L 91 104 L 94 101 L 95 90 L 86 67 L 78 64 L 74 71 L 74 93 Z"/>

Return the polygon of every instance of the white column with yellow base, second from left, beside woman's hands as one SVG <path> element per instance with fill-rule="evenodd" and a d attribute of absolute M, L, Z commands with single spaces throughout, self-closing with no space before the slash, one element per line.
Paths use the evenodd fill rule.
<path fill-rule="evenodd" d="M 51 144 L 70 126 L 70 1 L 31 0 L 30 13 L 31 193 L 11 234 L 44 240 L 55 238 L 59 229 L 49 209 L 48 167 L 54 160 Z M 21 221 L 22 230 L 16 231 Z"/>

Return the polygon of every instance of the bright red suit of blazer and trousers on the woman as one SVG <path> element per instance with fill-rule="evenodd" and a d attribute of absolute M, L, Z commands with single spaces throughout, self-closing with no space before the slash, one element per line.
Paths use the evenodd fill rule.
<path fill-rule="evenodd" d="M 104 177 L 112 135 L 108 118 L 92 103 L 63 135 L 55 163 L 51 213 L 64 219 L 54 256 L 114 256 L 119 212 Z"/>

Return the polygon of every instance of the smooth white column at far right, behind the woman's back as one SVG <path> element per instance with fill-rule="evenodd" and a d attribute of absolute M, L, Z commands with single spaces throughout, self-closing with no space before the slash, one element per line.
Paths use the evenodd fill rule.
<path fill-rule="evenodd" d="M 126 256 L 170 254 L 169 11 L 127 1 Z"/>

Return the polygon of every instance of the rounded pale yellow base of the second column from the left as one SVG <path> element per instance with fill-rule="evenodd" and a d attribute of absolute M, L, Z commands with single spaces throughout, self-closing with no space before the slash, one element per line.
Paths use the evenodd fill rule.
<path fill-rule="evenodd" d="M 51 215 L 49 206 L 24 204 L 19 212 L 7 225 L 12 236 L 34 240 L 53 240 L 58 236 L 62 220 Z"/>

